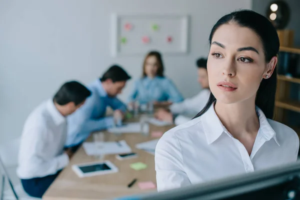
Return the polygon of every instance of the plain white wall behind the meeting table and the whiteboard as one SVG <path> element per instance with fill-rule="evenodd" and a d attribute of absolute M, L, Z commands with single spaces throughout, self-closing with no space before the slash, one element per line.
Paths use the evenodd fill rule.
<path fill-rule="evenodd" d="M 69 79 L 88 83 L 112 63 L 134 77 L 143 57 L 110 56 L 110 14 L 186 13 L 189 53 L 164 56 L 184 96 L 199 90 L 195 59 L 206 56 L 212 25 L 251 0 L 0 0 L 0 142 L 21 133 L 28 113 Z M 130 81 L 121 98 L 130 90 Z"/>

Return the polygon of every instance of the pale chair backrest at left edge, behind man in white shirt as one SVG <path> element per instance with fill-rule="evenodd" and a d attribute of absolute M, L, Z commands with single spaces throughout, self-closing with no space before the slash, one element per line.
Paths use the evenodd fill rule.
<path fill-rule="evenodd" d="M 0 146 L 0 157 L 5 167 L 17 165 L 19 145 L 20 137 Z"/>

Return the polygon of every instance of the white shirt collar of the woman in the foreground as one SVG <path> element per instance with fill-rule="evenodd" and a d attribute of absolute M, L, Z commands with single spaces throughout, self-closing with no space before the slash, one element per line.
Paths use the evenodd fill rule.
<path fill-rule="evenodd" d="M 261 131 L 266 140 L 274 138 L 275 142 L 279 145 L 279 142 L 276 138 L 276 132 L 268 123 L 267 118 L 265 117 L 262 110 L 257 106 L 256 113 L 260 125 L 258 132 Z M 203 121 L 203 128 L 208 144 L 214 142 L 223 132 L 228 134 L 228 136 L 232 137 L 232 135 L 226 130 L 225 126 L 223 126 L 220 119 L 216 115 L 214 111 L 214 103 L 208 108 L 208 110 L 204 114 L 201 115 L 201 120 Z"/>

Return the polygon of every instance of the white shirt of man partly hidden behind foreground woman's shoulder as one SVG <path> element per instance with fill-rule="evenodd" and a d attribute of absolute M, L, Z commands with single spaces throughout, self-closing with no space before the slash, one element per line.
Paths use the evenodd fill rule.
<path fill-rule="evenodd" d="M 171 112 L 173 114 L 178 114 L 174 119 L 174 123 L 179 125 L 193 118 L 206 105 L 209 94 L 210 90 L 205 88 L 198 94 L 184 99 L 182 102 L 171 104 Z"/>

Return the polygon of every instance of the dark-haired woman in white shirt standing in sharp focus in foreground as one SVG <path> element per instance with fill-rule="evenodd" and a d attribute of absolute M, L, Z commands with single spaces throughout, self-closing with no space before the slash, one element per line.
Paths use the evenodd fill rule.
<path fill-rule="evenodd" d="M 297 134 L 272 120 L 279 39 L 271 22 L 251 10 L 231 12 L 214 24 L 209 44 L 210 97 L 158 141 L 158 191 L 297 159 Z"/>

